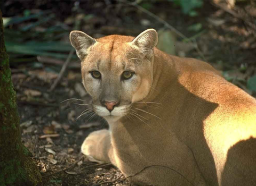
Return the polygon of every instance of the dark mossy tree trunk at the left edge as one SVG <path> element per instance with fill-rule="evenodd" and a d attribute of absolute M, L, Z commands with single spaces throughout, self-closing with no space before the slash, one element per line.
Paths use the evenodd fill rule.
<path fill-rule="evenodd" d="M 41 174 L 28 155 L 29 151 L 21 143 L 16 92 L 4 45 L 0 10 L 0 186 L 38 185 L 41 182 Z"/>

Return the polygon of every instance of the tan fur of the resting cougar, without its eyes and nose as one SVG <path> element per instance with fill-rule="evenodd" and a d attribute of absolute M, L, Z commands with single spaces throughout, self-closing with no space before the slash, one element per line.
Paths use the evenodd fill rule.
<path fill-rule="evenodd" d="M 135 39 L 83 37 L 91 45 L 84 47 L 81 32 L 70 33 L 92 107 L 110 127 L 92 132 L 82 153 L 113 163 L 139 185 L 256 185 L 253 97 L 205 62 L 154 48 L 153 29 Z M 135 75 L 122 81 L 127 69 Z M 101 99 L 120 102 L 113 116 Z"/>

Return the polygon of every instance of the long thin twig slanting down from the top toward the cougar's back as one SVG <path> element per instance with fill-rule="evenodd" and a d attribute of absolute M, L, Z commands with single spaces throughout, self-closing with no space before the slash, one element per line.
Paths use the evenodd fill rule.
<path fill-rule="evenodd" d="M 177 29 L 175 29 L 174 27 L 171 26 L 171 24 L 167 23 L 165 20 L 163 20 L 162 18 L 159 18 L 156 14 L 144 9 L 143 7 L 141 7 L 140 5 L 138 5 L 136 2 L 129 2 L 129 1 L 126 1 L 126 0 L 118 0 L 119 2 L 121 3 L 125 3 L 125 4 L 128 4 L 128 5 L 131 5 L 131 6 L 134 6 L 136 7 L 137 9 L 139 9 L 140 11 L 148 14 L 149 16 L 151 16 L 152 18 L 156 19 L 157 21 L 161 22 L 164 24 L 165 27 L 169 28 L 170 30 L 172 30 L 173 32 L 175 32 L 178 36 L 180 36 L 182 39 L 185 39 L 185 40 L 188 40 L 189 43 L 191 43 L 197 53 L 203 58 L 204 61 L 206 61 L 206 58 L 204 57 L 204 54 L 201 52 L 201 50 L 198 48 L 198 45 L 197 45 L 197 42 L 195 39 L 189 39 L 187 38 L 185 35 L 183 35 L 183 33 L 181 33 L 180 31 L 178 31 Z"/>

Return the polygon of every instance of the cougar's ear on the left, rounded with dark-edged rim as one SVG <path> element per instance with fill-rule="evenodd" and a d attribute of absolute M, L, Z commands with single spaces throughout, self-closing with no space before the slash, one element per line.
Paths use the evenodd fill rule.
<path fill-rule="evenodd" d="M 81 31 L 71 31 L 69 35 L 71 45 L 76 49 L 76 54 L 82 60 L 88 53 L 87 49 L 97 41 Z"/>

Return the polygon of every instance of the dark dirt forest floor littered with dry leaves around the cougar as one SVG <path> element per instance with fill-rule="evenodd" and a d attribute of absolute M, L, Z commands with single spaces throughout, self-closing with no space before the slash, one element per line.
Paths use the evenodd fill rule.
<path fill-rule="evenodd" d="M 6 3 L 3 9 L 4 16 L 19 15 L 25 9 L 51 9 L 57 14 L 55 19 L 62 22 L 67 22 L 70 16 L 76 16 L 71 11 L 75 1 L 59 4 L 58 1 L 7 2 L 9 4 Z M 95 38 L 110 34 L 136 36 L 147 28 L 159 30 L 164 27 L 159 20 L 127 4 L 81 1 L 80 6 L 86 14 L 94 15 L 83 23 L 82 30 Z M 183 15 L 178 7 L 170 3 L 155 3 L 149 11 L 188 38 L 197 33 L 188 30 L 188 27 L 201 23 L 205 31 L 196 37 L 196 41 L 205 60 L 218 70 L 227 72 L 232 82 L 255 96 L 255 92 L 246 88 L 246 80 L 256 74 L 256 42 L 253 31 L 245 27 L 243 20 L 210 3 L 205 3 L 196 18 Z M 65 40 L 68 40 L 68 35 Z M 177 37 L 177 40 L 181 41 L 181 38 Z M 177 54 L 202 58 L 193 48 L 177 51 Z M 47 69 L 58 65 L 43 63 L 41 67 L 35 68 L 28 63 L 11 64 L 22 141 L 34 156 L 43 176 L 43 185 L 129 185 L 116 167 L 89 162 L 81 154 L 80 148 L 85 137 L 94 130 L 108 128 L 108 125 L 93 113 L 79 117 L 87 106 L 77 104 L 90 103 L 90 96 L 81 83 L 79 61 L 70 65 L 73 67 L 67 70 L 59 85 L 49 91 L 58 73 Z M 24 68 L 28 73 L 21 71 Z M 71 98 L 81 100 L 67 100 Z"/>

